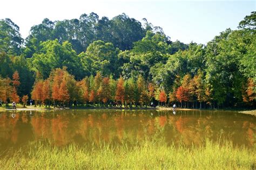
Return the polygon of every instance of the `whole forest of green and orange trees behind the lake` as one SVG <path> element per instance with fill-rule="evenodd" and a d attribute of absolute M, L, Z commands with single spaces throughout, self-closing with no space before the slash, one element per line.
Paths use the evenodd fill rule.
<path fill-rule="evenodd" d="M 0 100 L 45 106 L 255 108 L 256 12 L 207 44 L 125 13 L 45 18 L 25 39 L 0 19 Z"/>

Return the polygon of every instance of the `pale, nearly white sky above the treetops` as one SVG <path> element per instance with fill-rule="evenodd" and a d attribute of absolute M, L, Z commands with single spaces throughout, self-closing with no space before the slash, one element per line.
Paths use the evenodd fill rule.
<path fill-rule="evenodd" d="M 111 19 L 121 13 L 142 22 L 146 18 L 163 28 L 172 41 L 206 44 L 227 28 L 237 29 L 240 21 L 256 11 L 256 1 L 183 0 L 3 0 L 0 19 L 10 18 L 23 38 L 31 26 L 51 21 L 79 19 L 83 13 L 97 13 Z"/>

